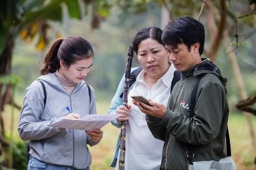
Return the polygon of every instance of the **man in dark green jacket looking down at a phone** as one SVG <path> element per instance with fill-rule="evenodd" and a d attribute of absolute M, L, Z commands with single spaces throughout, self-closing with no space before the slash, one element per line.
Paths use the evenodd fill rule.
<path fill-rule="evenodd" d="M 181 80 L 175 84 L 167 108 L 154 101 L 150 101 L 152 106 L 133 103 L 147 115 L 154 137 L 164 141 L 161 169 L 188 169 L 188 144 L 194 145 L 194 162 L 218 162 L 227 156 L 227 79 L 209 59 L 201 58 L 204 26 L 184 16 L 166 26 L 162 40 Z M 199 79 L 194 116 L 189 118 L 191 92 Z"/>

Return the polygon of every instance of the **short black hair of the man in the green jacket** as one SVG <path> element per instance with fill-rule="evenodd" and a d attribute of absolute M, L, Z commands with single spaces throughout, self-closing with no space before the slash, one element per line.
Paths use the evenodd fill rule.
<path fill-rule="evenodd" d="M 177 47 L 178 44 L 184 43 L 190 52 L 191 45 L 199 43 L 199 54 L 204 52 L 204 25 L 191 18 L 182 16 L 166 25 L 162 40 L 165 45 Z"/>

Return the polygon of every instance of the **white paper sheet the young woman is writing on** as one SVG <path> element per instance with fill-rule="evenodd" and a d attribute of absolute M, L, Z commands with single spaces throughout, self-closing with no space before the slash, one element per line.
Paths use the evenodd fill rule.
<path fill-rule="evenodd" d="M 86 115 L 81 119 L 63 118 L 59 122 L 48 124 L 48 126 L 92 131 L 93 129 L 101 129 L 103 126 L 105 126 L 106 124 L 113 121 L 115 118 L 119 116 L 121 115 L 92 114 Z"/>

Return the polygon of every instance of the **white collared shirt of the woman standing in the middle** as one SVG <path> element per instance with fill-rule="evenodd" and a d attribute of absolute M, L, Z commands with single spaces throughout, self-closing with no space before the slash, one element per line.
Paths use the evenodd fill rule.
<path fill-rule="evenodd" d="M 136 84 L 129 92 L 128 104 L 132 107 L 129 111 L 130 118 L 126 129 L 125 170 L 159 169 L 161 165 L 164 142 L 153 137 L 148 129 L 145 114 L 132 104 L 131 96 L 142 95 L 166 106 L 171 94 L 174 71 L 172 64 L 163 77 L 158 79 L 149 90 L 144 80 L 145 71 L 142 70 L 137 77 Z M 119 160 L 119 154 L 117 160 Z M 118 164 L 117 162 L 116 169 L 118 169 Z"/>

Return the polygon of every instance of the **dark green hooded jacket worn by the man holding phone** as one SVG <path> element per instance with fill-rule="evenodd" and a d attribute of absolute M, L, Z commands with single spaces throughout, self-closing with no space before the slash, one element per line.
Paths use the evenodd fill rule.
<path fill-rule="evenodd" d="M 189 118 L 191 92 L 199 83 L 195 115 Z M 172 90 L 163 118 L 146 116 L 154 137 L 164 141 L 161 169 L 187 170 L 187 144 L 195 146 L 194 161 L 227 156 L 225 135 L 228 123 L 227 79 L 217 66 L 205 60 L 182 72 Z"/>

